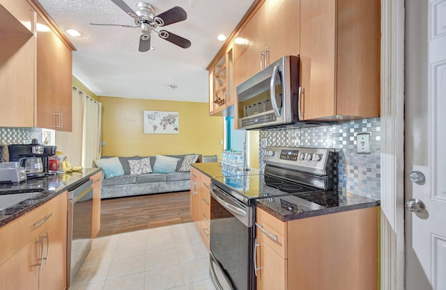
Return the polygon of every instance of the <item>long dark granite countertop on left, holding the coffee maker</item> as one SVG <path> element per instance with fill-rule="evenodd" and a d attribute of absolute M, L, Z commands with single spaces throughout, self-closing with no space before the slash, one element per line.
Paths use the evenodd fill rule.
<path fill-rule="evenodd" d="M 0 227 L 27 212 L 36 209 L 60 193 L 75 187 L 85 179 L 100 172 L 100 168 L 84 168 L 79 172 L 59 173 L 37 179 L 28 179 L 20 184 L 0 184 L 0 195 L 36 192 L 31 198 L 0 210 Z"/>

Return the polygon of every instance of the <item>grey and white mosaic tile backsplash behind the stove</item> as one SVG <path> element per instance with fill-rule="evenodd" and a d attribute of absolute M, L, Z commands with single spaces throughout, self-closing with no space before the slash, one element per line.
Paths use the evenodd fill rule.
<path fill-rule="evenodd" d="M 356 153 L 356 135 L 369 133 L 371 154 Z M 337 152 L 337 188 L 380 199 L 380 118 L 351 120 L 317 127 L 288 127 L 260 131 L 268 146 L 323 147 Z M 260 148 L 261 170 L 263 148 Z"/>

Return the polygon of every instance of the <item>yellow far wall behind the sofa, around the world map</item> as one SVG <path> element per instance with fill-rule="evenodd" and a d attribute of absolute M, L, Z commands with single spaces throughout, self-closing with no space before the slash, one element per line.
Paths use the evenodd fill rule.
<path fill-rule="evenodd" d="M 208 104 L 152 99 L 98 97 L 102 102 L 102 155 L 153 156 L 187 154 L 220 156 L 223 118 L 210 117 Z M 144 134 L 144 111 L 179 113 L 179 134 Z"/>

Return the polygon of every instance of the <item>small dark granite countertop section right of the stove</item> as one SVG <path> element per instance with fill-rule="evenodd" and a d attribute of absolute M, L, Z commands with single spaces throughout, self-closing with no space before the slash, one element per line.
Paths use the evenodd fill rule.
<path fill-rule="evenodd" d="M 379 200 L 344 191 L 300 193 L 256 200 L 257 207 L 284 222 L 379 205 Z"/>

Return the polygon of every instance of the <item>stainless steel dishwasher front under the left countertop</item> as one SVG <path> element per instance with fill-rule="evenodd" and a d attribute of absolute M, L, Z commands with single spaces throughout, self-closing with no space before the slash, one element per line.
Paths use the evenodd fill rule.
<path fill-rule="evenodd" d="M 68 191 L 67 284 L 75 279 L 91 250 L 93 180 Z"/>

